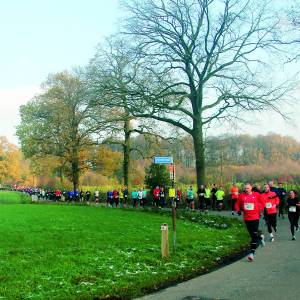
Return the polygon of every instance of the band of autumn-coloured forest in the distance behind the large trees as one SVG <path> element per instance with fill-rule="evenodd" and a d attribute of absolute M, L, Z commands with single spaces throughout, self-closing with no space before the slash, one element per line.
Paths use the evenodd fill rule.
<path fill-rule="evenodd" d="M 132 141 L 130 178 L 143 185 L 145 170 L 153 156 L 172 155 L 176 182 L 195 184 L 195 157 L 191 138 L 171 140 L 145 138 Z M 95 146 L 84 153 L 81 186 L 122 184 L 122 153 L 119 145 Z M 277 134 L 209 137 L 206 140 L 207 183 L 264 182 L 274 179 L 300 183 L 300 143 Z M 20 150 L 0 138 L 0 182 L 2 185 L 70 186 L 55 157 L 25 160 Z"/>

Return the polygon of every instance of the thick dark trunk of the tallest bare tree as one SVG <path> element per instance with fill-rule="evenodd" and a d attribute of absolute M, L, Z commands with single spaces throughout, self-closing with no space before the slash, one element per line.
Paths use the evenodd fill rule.
<path fill-rule="evenodd" d="M 201 184 L 205 184 L 205 146 L 201 122 L 194 122 L 192 137 L 196 158 L 197 186 L 199 187 Z"/>

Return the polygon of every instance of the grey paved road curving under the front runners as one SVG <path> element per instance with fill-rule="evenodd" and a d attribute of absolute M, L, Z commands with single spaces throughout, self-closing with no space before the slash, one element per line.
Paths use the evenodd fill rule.
<path fill-rule="evenodd" d="M 300 299 L 300 232 L 291 240 L 289 222 L 278 220 L 273 243 L 259 248 L 255 261 L 243 258 L 231 265 L 160 292 L 142 300 L 208 299 Z"/>

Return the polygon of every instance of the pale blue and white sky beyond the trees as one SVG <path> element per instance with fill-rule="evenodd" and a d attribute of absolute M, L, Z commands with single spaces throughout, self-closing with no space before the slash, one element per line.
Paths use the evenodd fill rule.
<path fill-rule="evenodd" d="M 0 136 L 18 144 L 20 105 L 40 91 L 50 73 L 86 65 L 97 44 L 118 30 L 121 16 L 118 0 L 0 0 Z M 231 132 L 272 132 L 300 141 L 300 106 L 283 109 L 288 122 L 275 113 L 252 114 L 251 124 Z"/>

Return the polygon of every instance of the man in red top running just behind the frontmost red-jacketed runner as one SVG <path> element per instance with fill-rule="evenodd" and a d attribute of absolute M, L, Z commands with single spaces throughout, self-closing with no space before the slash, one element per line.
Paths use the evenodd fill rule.
<path fill-rule="evenodd" d="M 265 218 L 270 234 L 270 242 L 274 242 L 272 228 L 274 229 L 274 232 L 277 231 L 277 206 L 280 203 L 280 199 L 276 192 L 270 190 L 269 184 L 265 184 L 265 191 L 261 194 L 261 197 L 265 204 Z"/>

